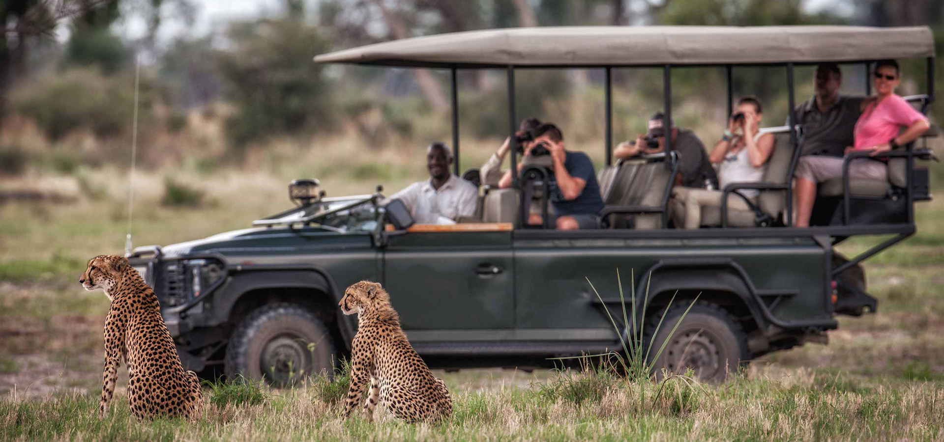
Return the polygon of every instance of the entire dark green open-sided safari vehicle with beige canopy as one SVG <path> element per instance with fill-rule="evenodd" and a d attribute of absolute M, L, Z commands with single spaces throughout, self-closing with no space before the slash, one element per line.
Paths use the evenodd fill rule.
<path fill-rule="evenodd" d="M 730 44 L 735 39 L 736 47 Z M 765 129 L 776 134 L 776 143 L 762 182 L 723 189 L 726 194 L 760 189 L 758 205 L 704 213 L 702 223 L 716 227 L 671 229 L 666 202 L 678 156 L 669 140 L 664 154 L 613 163 L 612 70 L 663 70 L 667 126 L 673 70 L 725 68 L 730 110 L 733 69 L 783 68 L 792 109 L 795 66 L 833 61 L 864 64 L 868 71 L 870 62 L 891 57 L 927 59 L 927 94 L 908 97 L 925 109 L 934 99 L 935 66 L 927 27 L 535 27 L 389 41 L 321 55 L 316 62 L 448 70 L 457 158 L 459 70 L 507 73 L 511 134 L 515 72 L 601 70 L 606 92 L 602 228 L 525 225 L 533 195 L 542 194 L 533 190 L 548 186 L 548 171 L 535 165 L 514 178 L 513 188 L 482 186 L 480 216 L 471 222 L 412 224 L 402 205 L 385 205 L 380 189 L 326 198 L 316 181 L 301 180 L 290 186 L 297 207 L 253 221 L 252 228 L 141 247 L 129 257 L 155 287 L 181 359 L 197 371 L 223 366 L 228 374 L 284 385 L 299 373 L 331 368 L 349 352 L 357 329 L 356 317 L 343 316 L 337 303 L 346 286 L 364 279 L 381 282 L 391 293 L 404 330 L 431 367 L 549 365 L 552 356 L 618 350 L 607 311 L 624 336 L 632 331 L 622 320 L 620 270 L 627 296 L 635 288 L 636 301 L 649 305 L 646 317 L 637 309 L 648 334 L 663 311 L 666 324 L 674 323 L 698 296 L 674 336 L 668 336 L 668 326 L 654 336 L 653 348 L 669 339 L 655 362 L 722 380 L 765 353 L 826 342 L 838 314 L 876 310 L 878 302 L 866 291 L 857 265 L 915 233 L 914 204 L 931 198 L 927 171 L 917 163 L 931 153 L 916 143 L 902 146 L 885 154 L 887 182 L 847 174 L 822 186 L 818 225 L 793 227 L 787 203 L 802 134 L 790 112 L 790 124 Z M 517 161 L 513 155 L 513 170 Z M 458 160 L 456 165 L 458 174 Z M 475 175 L 464 174 L 470 180 Z M 849 237 L 887 234 L 894 237 L 849 259 L 834 253 Z"/>

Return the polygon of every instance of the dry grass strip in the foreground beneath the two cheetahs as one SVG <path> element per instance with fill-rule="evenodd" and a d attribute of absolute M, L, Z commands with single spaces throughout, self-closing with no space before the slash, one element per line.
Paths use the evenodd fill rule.
<path fill-rule="evenodd" d="M 492 371 L 488 373 L 494 374 Z M 521 373 L 503 373 L 507 378 Z M 601 382 L 593 374 L 586 382 Z M 453 417 L 429 426 L 380 413 L 343 420 L 343 403 L 320 401 L 308 387 L 267 392 L 258 404 L 206 404 L 192 424 L 138 422 L 119 396 L 112 416 L 94 417 L 93 396 L 0 401 L 0 438 L 61 440 L 939 440 L 944 385 L 860 383 L 806 368 L 755 368 L 724 385 L 682 387 L 607 380 L 598 399 L 580 403 L 543 394 L 545 384 L 476 390 L 445 374 Z M 662 389 L 660 394 L 659 390 Z M 208 390 L 208 393 L 210 390 Z M 210 396 L 208 394 L 208 396 Z"/>

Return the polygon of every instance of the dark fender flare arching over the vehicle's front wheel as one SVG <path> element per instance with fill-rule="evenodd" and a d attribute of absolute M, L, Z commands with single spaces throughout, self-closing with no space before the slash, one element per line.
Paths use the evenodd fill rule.
<path fill-rule="evenodd" d="M 331 303 L 341 301 L 340 292 L 336 289 L 329 275 L 319 270 L 250 270 L 230 273 L 232 279 L 214 296 L 217 318 L 222 322 L 229 318 L 233 307 L 239 303 L 246 293 L 259 289 L 279 288 L 311 288 L 325 293 Z M 333 312 L 338 317 L 338 328 L 341 335 L 349 340 L 357 331 L 356 323 L 351 317 L 340 315 L 340 309 Z"/>

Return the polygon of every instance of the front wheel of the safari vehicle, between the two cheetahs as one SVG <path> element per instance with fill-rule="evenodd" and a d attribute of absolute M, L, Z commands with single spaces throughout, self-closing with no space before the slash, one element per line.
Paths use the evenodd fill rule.
<path fill-rule="evenodd" d="M 296 304 L 273 303 L 250 313 L 229 339 L 226 372 L 269 385 L 295 385 L 312 373 L 331 374 L 334 343 L 324 322 Z"/>

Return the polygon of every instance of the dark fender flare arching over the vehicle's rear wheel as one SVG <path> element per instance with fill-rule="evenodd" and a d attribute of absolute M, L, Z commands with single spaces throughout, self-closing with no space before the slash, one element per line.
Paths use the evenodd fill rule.
<path fill-rule="evenodd" d="M 759 303 L 760 298 L 754 292 L 750 278 L 737 269 L 732 262 L 708 261 L 703 263 L 689 260 L 672 262 L 660 261 L 652 266 L 640 279 L 636 287 L 637 305 L 641 305 L 648 295 L 648 303 L 656 296 L 676 290 L 685 291 L 725 291 L 733 293 L 743 302 L 757 327 L 765 329 L 767 319 Z M 669 295 L 671 296 L 671 295 Z M 679 303 L 678 300 L 675 303 Z M 641 315 L 641 313 L 640 313 Z"/>

